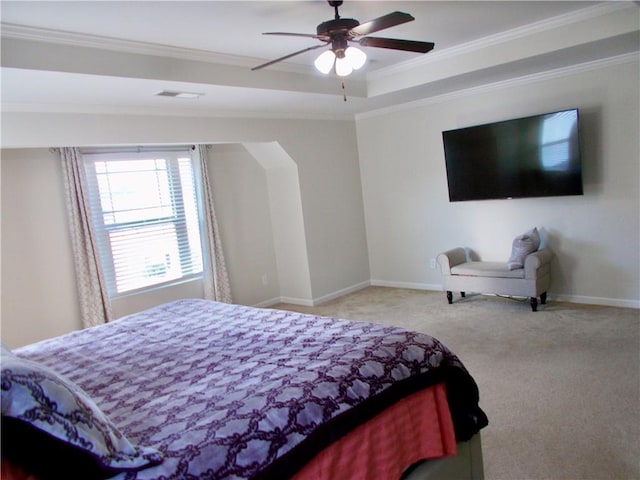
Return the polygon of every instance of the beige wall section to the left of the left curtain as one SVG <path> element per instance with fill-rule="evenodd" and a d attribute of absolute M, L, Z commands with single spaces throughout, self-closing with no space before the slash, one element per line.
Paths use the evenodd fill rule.
<path fill-rule="evenodd" d="M 81 327 L 59 162 L 2 152 L 2 340 L 10 347 Z"/>

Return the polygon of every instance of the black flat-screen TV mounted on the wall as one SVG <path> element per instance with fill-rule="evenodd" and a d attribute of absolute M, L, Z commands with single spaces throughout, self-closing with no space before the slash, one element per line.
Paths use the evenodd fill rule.
<path fill-rule="evenodd" d="M 582 195 L 578 109 L 442 132 L 449 200 Z"/>

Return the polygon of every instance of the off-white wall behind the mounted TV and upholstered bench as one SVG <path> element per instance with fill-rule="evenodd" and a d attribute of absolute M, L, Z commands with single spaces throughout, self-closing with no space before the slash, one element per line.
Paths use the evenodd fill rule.
<path fill-rule="evenodd" d="M 638 62 L 595 67 L 358 118 L 372 283 L 439 289 L 440 251 L 506 261 L 513 237 L 538 226 L 556 253 L 550 298 L 640 307 Z M 449 202 L 442 131 L 570 107 L 584 196 Z"/>

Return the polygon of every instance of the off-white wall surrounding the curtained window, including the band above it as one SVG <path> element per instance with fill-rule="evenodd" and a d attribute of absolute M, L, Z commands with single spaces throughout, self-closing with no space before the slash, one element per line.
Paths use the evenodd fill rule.
<path fill-rule="evenodd" d="M 59 160 L 49 147 L 244 142 L 277 142 L 296 164 L 298 197 L 291 201 L 304 218 L 310 286 L 305 290 L 308 298 L 300 300 L 313 304 L 368 284 L 354 122 L 3 112 L 3 340 L 15 347 L 81 325 Z M 216 148 L 210 153 L 209 173 L 220 203 L 219 221 L 224 222 L 222 241 L 234 301 L 278 300 L 282 280 L 274 261 L 267 174 L 239 145 Z M 256 244 L 260 240 L 264 242 Z M 323 260 L 327 251 L 330 261 Z M 21 270 L 21 262 L 28 268 Z M 262 282 L 265 274 L 267 285 Z M 118 308 L 116 316 L 200 291 L 191 287 L 133 299 L 126 309 Z"/>

